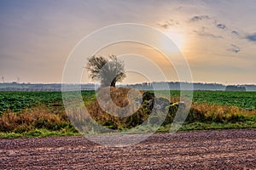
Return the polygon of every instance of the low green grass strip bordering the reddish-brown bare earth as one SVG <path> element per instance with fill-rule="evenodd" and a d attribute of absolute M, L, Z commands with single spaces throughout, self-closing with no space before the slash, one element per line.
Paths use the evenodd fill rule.
<path fill-rule="evenodd" d="M 216 107 L 216 106 L 215 106 Z M 36 110 L 38 111 L 38 110 Z M 28 113 L 23 113 L 27 116 Z M 49 113 L 51 114 L 51 113 Z M 37 114 L 33 114 L 37 115 Z M 48 117 L 44 110 L 44 118 Z M 216 116 L 218 115 L 218 116 Z M 235 116 L 232 116 L 235 115 Z M 256 128 L 256 115 L 254 114 L 244 114 L 244 115 L 237 115 L 232 114 L 228 116 L 220 115 L 218 114 L 211 114 L 207 115 L 207 120 L 200 121 L 197 120 L 195 122 L 184 122 L 183 126 L 178 131 L 190 131 L 190 130 L 211 130 L 211 129 L 232 129 L 232 128 Z M 7 115 L 6 115 L 7 116 Z M 20 119 L 17 118 L 19 116 L 9 116 L 9 124 L 14 125 L 15 123 L 11 121 L 11 119 L 14 119 L 16 122 L 20 122 Z M 20 114 L 20 117 L 23 117 L 22 114 Z M 35 116 L 34 116 L 35 117 Z M 50 116 L 49 116 L 50 117 Z M 216 117 L 218 117 L 216 119 Z M 224 117 L 224 118 L 223 118 Z M 227 120 L 227 117 L 229 119 Z M 230 117 L 235 117 L 235 120 L 231 119 Z M 222 119 L 220 119 L 222 118 Z M 49 118 L 46 118 L 49 119 Z M 6 120 L 6 119 L 5 119 Z M 40 127 L 35 127 L 35 122 L 37 120 L 33 118 L 34 122 L 31 122 L 31 124 L 34 123 L 34 125 L 27 127 L 27 123 L 21 123 L 20 126 L 15 126 L 13 129 L 9 131 L 0 132 L 0 139 L 16 139 L 16 138 L 35 138 L 35 137 L 49 137 L 49 136 L 78 136 L 81 135 L 68 121 L 62 122 L 63 124 L 59 124 L 59 127 L 53 127 L 49 122 L 44 122 L 40 124 Z M 58 118 L 57 120 L 60 121 Z M 222 121 L 221 121 L 222 120 Z M 38 119 L 40 121 L 40 119 Z M 53 122 L 55 123 L 55 122 Z M 3 124 L 2 124 L 3 126 Z M 148 130 L 152 132 L 153 127 L 145 127 L 145 129 L 140 129 L 139 132 L 145 132 L 147 133 Z M 169 132 L 171 128 L 171 123 L 168 123 L 164 126 L 161 126 L 156 132 L 157 133 L 165 133 Z M 119 127 L 119 129 L 124 130 L 125 128 Z M 136 133 L 136 131 L 134 132 Z"/>

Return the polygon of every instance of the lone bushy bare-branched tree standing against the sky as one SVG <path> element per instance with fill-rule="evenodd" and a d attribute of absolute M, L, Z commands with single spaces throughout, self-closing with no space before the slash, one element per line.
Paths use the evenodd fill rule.
<path fill-rule="evenodd" d="M 101 82 L 102 87 L 115 87 L 116 82 L 126 77 L 125 64 L 115 55 L 108 56 L 108 59 L 94 55 L 88 59 L 85 68 L 90 72 L 91 80 Z"/>

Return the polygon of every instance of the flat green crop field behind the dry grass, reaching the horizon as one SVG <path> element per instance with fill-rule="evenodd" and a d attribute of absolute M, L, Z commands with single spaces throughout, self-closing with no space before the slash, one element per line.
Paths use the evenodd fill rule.
<path fill-rule="evenodd" d="M 82 91 L 84 100 L 95 99 L 95 91 Z M 179 91 L 171 91 L 178 97 Z M 235 105 L 242 109 L 256 108 L 256 92 L 195 91 L 193 102 L 217 105 Z M 22 111 L 36 105 L 62 105 L 61 92 L 0 92 L 0 114 L 4 111 Z"/>

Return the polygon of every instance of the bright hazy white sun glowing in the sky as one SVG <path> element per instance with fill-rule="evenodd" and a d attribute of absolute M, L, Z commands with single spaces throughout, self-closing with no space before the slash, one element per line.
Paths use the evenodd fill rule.
<path fill-rule="evenodd" d="M 172 47 L 173 45 L 170 44 L 169 41 L 166 40 L 166 38 L 162 38 L 161 40 L 161 46 L 162 48 L 169 53 L 175 53 L 179 51 L 183 51 L 183 46 L 184 46 L 184 35 L 178 31 L 166 31 L 166 36 L 169 37 L 172 42 L 174 42 L 174 44 L 177 47 Z"/>

